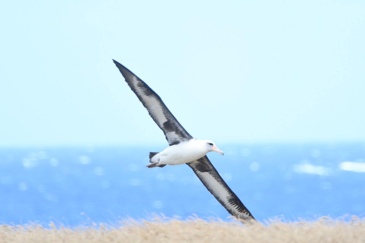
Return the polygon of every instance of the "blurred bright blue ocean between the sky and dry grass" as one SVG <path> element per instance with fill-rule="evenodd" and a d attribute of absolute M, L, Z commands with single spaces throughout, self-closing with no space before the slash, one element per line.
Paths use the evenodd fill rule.
<path fill-rule="evenodd" d="M 365 142 L 222 144 L 212 164 L 258 221 L 365 216 Z M 0 223 L 230 214 L 187 165 L 146 168 L 149 147 L 0 149 Z"/>

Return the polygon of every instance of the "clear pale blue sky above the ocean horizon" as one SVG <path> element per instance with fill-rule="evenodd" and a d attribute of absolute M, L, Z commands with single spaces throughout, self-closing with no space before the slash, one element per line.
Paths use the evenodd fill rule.
<path fill-rule="evenodd" d="M 364 12 L 364 1 L 6 1 L 0 145 L 167 145 L 111 59 L 196 138 L 364 141 Z"/>

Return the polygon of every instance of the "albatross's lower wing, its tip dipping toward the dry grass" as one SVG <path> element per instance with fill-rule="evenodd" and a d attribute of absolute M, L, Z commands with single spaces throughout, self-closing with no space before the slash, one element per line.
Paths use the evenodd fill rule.
<path fill-rule="evenodd" d="M 193 169 L 208 191 L 212 193 L 215 199 L 217 199 L 231 215 L 237 219 L 254 220 L 250 211 L 243 205 L 231 188 L 228 187 L 207 156 L 188 162 L 187 165 Z"/>

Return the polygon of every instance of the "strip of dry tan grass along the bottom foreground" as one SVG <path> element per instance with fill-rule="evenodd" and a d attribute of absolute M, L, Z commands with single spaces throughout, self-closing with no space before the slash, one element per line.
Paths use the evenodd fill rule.
<path fill-rule="evenodd" d="M 313 221 L 243 225 L 236 221 L 209 222 L 191 217 L 187 220 L 156 217 L 151 220 L 128 219 L 117 225 L 92 224 L 78 228 L 49 227 L 37 224 L 0 226 L 0 242 L 365 242 L 365 220 L 322 217 Z"/>

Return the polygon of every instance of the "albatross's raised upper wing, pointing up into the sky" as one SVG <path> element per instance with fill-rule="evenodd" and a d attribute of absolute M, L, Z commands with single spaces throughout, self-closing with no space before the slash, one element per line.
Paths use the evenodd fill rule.
<path fill-rule="evenodd" d="M 192 138 L 190 134 L 180 125 L 173 114 L 167 109 L 160 96 L 153 91 L 145 82 L 138 78 L 133 72 L 122 64 L 113 60 L 119 68 L 128 86 L 137 95 L 139 101 L 146 107 L 148 113 L 156 124 L 164 131 L 169 145 L 179 144 Z"/>

